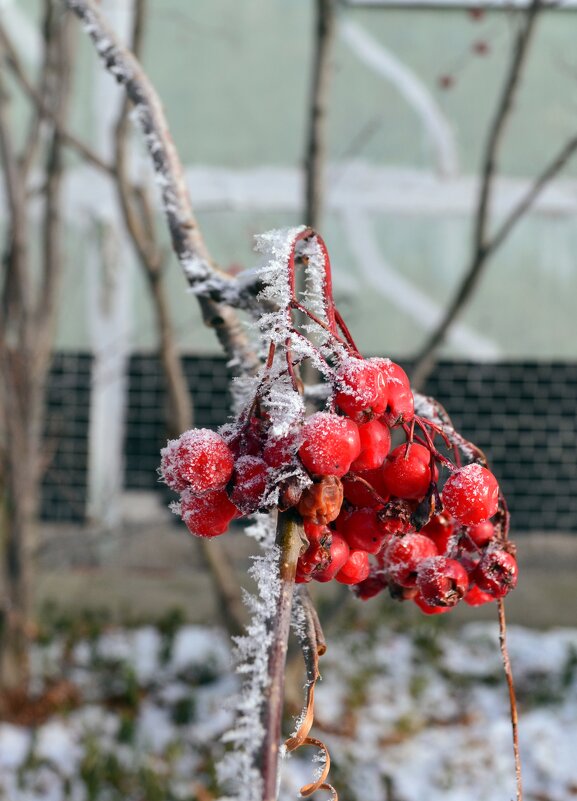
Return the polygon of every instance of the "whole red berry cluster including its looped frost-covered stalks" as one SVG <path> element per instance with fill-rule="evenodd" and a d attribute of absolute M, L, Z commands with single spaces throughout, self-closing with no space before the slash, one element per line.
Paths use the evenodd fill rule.
<path fill-rule="evenodd" d="M 362 599 L 388 588 L 429 614 L 463 598 L 503 597 L 517 563 L 483 454 L 432 399 L 420 398 L 415 413 L 397 364 L 361 356 L 334 305 L 318 234 L 294 229 L 264 240 L 261 297 L 273 309 L 259 320 L 266 363 L 235 423 L 221 433 L 188 431 L 162 451 L 161 475 L 180 493 L 189 530 L 214 537 L 235 517 L 291 510 L 308 543 L 297 582 L 334 578 Z M 296 290 L 297 247 L 312 308 Z M 295 325 L 295 311 L 305 325 Z M 304 359 L 329 390 L 325 410 L 308 417 L 297 371 Z"/>

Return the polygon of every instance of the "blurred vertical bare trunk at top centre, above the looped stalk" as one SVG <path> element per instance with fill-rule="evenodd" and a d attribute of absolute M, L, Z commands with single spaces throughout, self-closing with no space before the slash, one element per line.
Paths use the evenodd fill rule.
<path fill-rule="evenodd" d="M 335 41 L 335 0 L 316 0 L 314 72 L 309 110 L 305 225 L 318 229 L 323 208 L 328 99 Z"/>

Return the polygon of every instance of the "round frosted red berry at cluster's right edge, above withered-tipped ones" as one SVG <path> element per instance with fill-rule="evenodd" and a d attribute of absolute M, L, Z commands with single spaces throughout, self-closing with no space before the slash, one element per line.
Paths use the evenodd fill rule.
<path fill-rule="evenodd" d="M 480 464 L 468 464 L 452 473 L 443 487 L 447 512 L 467 526 L 492 517 L 499 507 L 497 479 Z"/>

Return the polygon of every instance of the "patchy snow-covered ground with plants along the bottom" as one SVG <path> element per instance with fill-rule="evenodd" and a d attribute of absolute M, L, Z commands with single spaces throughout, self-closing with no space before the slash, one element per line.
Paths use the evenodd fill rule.
<path fill-rule="evenodd" d="M 428 622 L 426 622 L 428 623 Z M 511 628 L 526 801 L 577 798 L 577 629 Z M 66 656 L 66 653 L 69 655 Z M 226 638 L 184 626 L 110 630 L 35 649 L 38 686 L 65 664 L 85 703 L 36 730 L 0 723 L 2 801 L 197 801 L 213 784 L 236 689 Z M 373 626 L 321 660 L 314 736 L 350 801 L 509 801 L 514 772 L 495 625 Z M 285 730 L 291 729 L 286 721 Z M 281 798 L 318 763 L 283 763 Z M 201 792 L 202 795 L 202 792 Z"/>

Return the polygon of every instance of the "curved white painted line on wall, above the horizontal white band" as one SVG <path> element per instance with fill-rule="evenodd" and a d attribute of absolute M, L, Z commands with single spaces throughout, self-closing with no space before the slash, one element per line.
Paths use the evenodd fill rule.
<path fill-rule="evenodd" d="M 341 21 L 340 34 L 357 58 L 390 81 L 419 115 L 435 149 L 441 175 L 456 175 L 459 170 L 459 156 L 455 135 L 425 84 L 397 56 L 352 20 Z"/>

